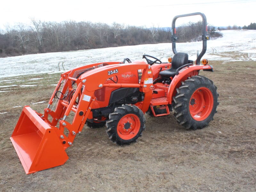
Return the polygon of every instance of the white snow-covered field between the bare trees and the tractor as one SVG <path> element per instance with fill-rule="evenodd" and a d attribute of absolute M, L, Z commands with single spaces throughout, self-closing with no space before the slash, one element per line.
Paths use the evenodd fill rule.
<path fill-rule="evenodd" d="M 226 30 L 221 33 L 222 38 L 207 42 L 207 52 L 203 58 L 223 62 L 256 61 L 256 30 Z M 176 48 L 178 52 L 187 52 L 190 60 L 196 60 L 196 51 L 201 51 L 202 42 L 176 43 Z M 167 62 L 167 58 L 173 55 L 172 44 L 145 44 L 0 58 L 0 78 L 62 72 L 90 63 L 123 61 L 124 58 L 141 60 L 143 54 Z"/>

